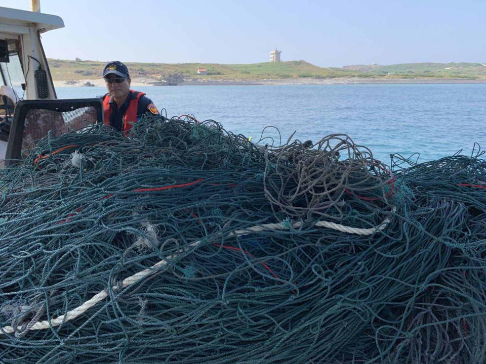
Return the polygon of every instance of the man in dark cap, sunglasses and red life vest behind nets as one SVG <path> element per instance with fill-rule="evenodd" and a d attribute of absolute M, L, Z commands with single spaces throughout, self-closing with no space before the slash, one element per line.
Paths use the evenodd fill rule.
<path fill-rule="evenodd" d="M 128 132 L 140 115 L 146 112 L 158 115 L 152 100 L 144 93 L 130 89 L 130 75 L 123 63 L 108 62 L 103 70 L 103 78 L 108 90 L 108 94 L 101 98 L 106 125 Z"/>

